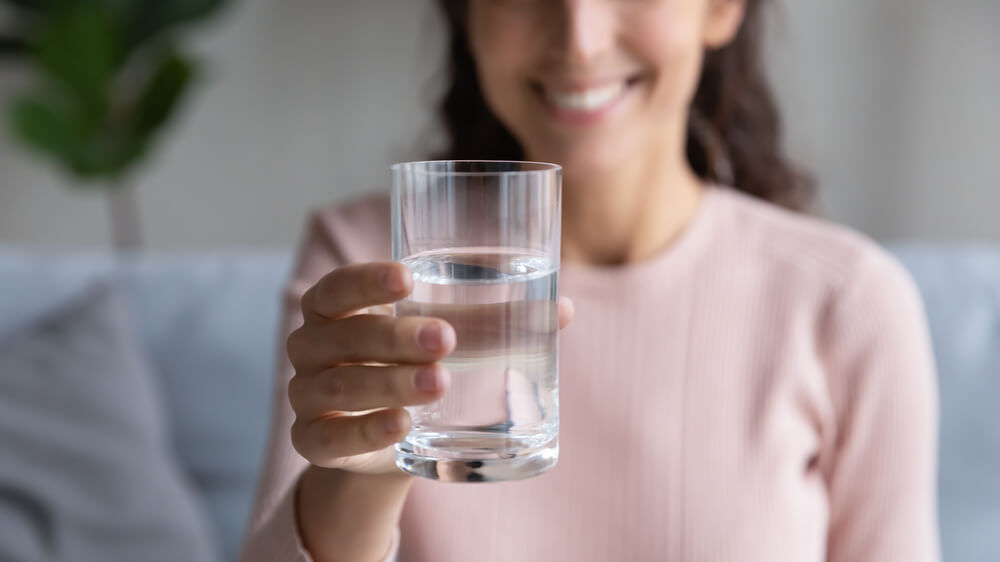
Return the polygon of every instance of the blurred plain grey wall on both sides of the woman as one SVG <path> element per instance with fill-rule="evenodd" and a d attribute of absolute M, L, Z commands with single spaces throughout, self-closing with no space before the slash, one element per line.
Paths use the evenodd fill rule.
<path fill-rule="evenodd" d="M 146 247 L 286 248 L 309 207 L 426 157 L 431 8 L 240 0 L 192 33 L 203 75 L 135 181 Z M 881 240 L 1000 240 L 1000 2 L 799 0 L 773 20 L 788 145 L 827 216 Z M 0 103 L 22 82 L 3 68 Z M 0 135 L 0 241 L 107 247 L 106 201 L 67 184 Z"/>

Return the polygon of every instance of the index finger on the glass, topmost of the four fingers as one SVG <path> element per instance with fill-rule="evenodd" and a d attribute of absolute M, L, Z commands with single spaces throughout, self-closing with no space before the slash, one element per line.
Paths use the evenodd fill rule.
<path fill-rule="evenodd" d="M 302 314 L 337 319 L 363 308 L 398 301 L 413 290 L 413 274 L 397 262 L 363 263 L 328 273 L 302 296 Z"/>

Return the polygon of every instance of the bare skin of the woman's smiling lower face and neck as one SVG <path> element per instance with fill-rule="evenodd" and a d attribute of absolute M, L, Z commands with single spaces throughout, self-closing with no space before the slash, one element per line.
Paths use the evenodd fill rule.
<path fill-rule="evenodd" d="M 733 38 L 742 2 L 485 0 L 470 11 L 490 107 L 528 159 L 564 167 L 564 260 L 621 264 L 663 250 L 698 203 L 684 141 L 703 54 Z M 538 92 L 615 80 L 628 92 L 596 122 L 560 119 Z"/>

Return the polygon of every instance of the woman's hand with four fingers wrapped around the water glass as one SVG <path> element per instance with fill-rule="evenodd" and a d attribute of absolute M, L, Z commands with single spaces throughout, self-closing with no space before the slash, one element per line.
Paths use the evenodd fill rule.
<path fill-rule="evenodd" d="M 436 365 L 455 348 L 447 322 L 361 313 L 412 289 L 406 266 L 367 263 L 336 269 L 303 295 L 304 323 L 288 338 L 288 398 L 292 444 L 313 465 L 396 471 L 392 445 L 410 429 L 403 406 L 433 402 L 448 387 Z"/>

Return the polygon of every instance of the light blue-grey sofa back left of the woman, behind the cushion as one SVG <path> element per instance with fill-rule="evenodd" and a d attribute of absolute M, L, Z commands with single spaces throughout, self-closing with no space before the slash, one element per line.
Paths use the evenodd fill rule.
<path fill-rule="evenodd" d="M 115 278 L 166 406 L 174 454 L 239 551 L 274 397 L 281 286 L 291 256 L 223 252 L 113 257 L 0 245 L 0 339 Z"/>

